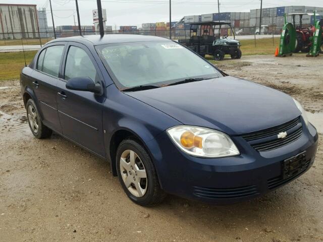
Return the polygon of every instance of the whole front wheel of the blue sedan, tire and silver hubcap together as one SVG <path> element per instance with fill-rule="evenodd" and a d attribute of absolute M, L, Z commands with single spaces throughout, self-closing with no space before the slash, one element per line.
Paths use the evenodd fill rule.
<path fill-rule="evenodd" d="M 166 194 L 160 188 L 150 156 L 139 142 L 132 139 L 122 141 L 116 161 L 119 181 L 130 200 L 141 206 L 163 201 Z"/>

